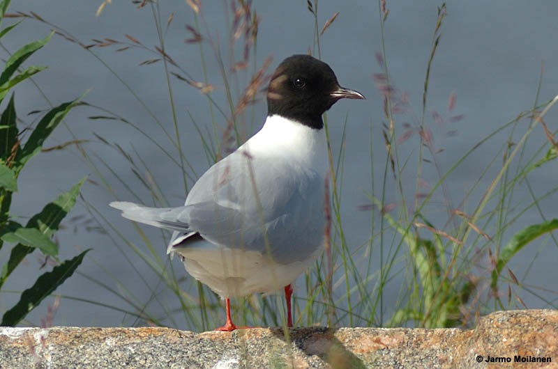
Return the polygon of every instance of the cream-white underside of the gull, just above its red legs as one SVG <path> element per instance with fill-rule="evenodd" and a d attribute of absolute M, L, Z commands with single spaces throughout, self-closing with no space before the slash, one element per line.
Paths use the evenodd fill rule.
<path fill-rule="evenodd" d="M 175 249 L 174 252 L 181 256 L 191 276 L 208 285 L 220 297 L 234 298 L 284 288 L 308 269 L 323 250 L 323 247 L 319 247 L 305 260 L 288 265 L 273 262 L 257 251 L 218 249 L 204 240 L 196 242 L 195 246 L 190 244 L 188 248 Z"/>

